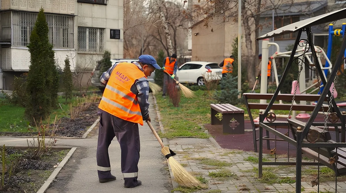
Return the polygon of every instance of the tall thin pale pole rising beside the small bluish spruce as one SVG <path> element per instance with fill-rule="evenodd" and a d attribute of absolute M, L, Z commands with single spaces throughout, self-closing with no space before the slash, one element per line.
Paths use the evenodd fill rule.
<path fill-rule="evenodd" d="M 238 2 L 238 99 L 242 90 L 242 0 Z"/>

